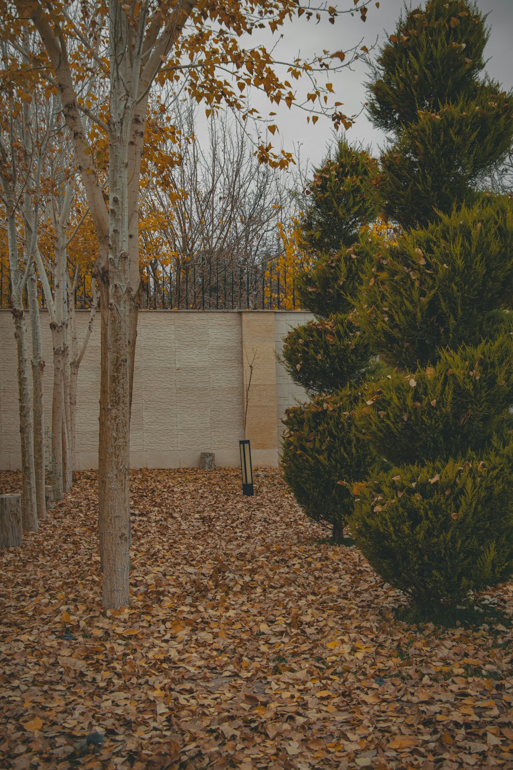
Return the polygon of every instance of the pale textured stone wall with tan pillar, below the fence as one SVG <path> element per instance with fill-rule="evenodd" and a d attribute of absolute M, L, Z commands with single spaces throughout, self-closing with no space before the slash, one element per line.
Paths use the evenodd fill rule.
<path fill-rule="evenodd" d="M 52 340 L 41 311 L 45 355 L 46 440 L 50 445 Z M 78 341 L 88 311 L 78 310 Z M 139 313 L 132 399 L 132 467 L 197 467 L 201 452 L 216 465 L 239 464 L 238 440 L 252 442 L 254 466 L 278 464 L 280 419 L 305 391 L 295 386 L 275 350 L 297 311 L 162 311 Z M 100 324 L 95 320 L 78 374 L 77 467 L 98 464 Z M 250 364 L 253 371 L 250 376 Z M 12 317 L 0 310 L 0 469 L 20 467 L 18 387 Z"/>

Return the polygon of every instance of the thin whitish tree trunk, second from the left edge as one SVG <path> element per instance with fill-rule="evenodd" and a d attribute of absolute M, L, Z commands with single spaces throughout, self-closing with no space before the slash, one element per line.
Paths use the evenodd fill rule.
<path fill-rule="evenodd" d="M 25 266 L 32 269 L 32 266 Z M 41 340 L 41 319 L 38 307 L 37 273 L 32 269 L 28 279 L 28 310 L 32 328 L 32 403 L 34 410 L 34 470 L 35 498 L 38 507 L 38 519 L 46 518 L 45 495 L 45 412 L 43 406 L 43 374 L 45 360 L 43 359 Z"/>

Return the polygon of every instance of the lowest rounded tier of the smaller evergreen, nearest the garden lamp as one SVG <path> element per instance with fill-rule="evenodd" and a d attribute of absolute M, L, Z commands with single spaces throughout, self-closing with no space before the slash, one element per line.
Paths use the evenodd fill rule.
<path fill-rule="evenodd" d="M 355 480 L 368 476 L 376 457 L 355 430 L 355 407 L 361 395 L 345 387 L 328 396 L 292 407 L 283 420 L 281 467 L 305 514 L 333 527 L 333 540 L 351 514 Z"/>

